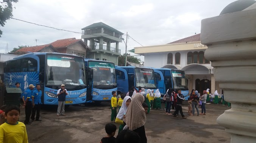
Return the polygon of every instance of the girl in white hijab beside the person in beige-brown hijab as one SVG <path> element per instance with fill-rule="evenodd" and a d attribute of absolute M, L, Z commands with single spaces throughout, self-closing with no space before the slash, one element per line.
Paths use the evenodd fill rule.
<path fill-rule="evenodd" d="M 120 124 L 118 133 L 120 131 L 122 131 L 123 127 L 126 125 L 125 122 L 123 122 L 123 117 L 125 116 L 126 111 L 128 109 L 128 106 L 130 105 L 130 103 L 131 103 L 131 97 L 130 96 L 125 96 L 125 98 L 123 99 L 122 106 L 119 109 L 118 114 L 116 116 L 116 120 L 115 120 L 116 123 Z"/>

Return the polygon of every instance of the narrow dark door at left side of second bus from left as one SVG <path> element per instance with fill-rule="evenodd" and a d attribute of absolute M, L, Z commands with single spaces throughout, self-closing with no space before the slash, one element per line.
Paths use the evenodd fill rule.
<path fill-rule="evenodd" d="M 92 84 L 93 84 L 93 69 L 86 67 L 87 74 L 87 90 L 86 90 L 86 102 L 92 101 Z"/>

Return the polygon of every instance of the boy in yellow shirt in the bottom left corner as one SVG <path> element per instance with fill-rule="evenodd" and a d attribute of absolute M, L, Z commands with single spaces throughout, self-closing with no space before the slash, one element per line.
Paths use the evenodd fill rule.
<path fill-rule="evenodd" d="M 5 119 L 0 126 L 0 143 L 28 143 L 26 126 L 18 122 L 20 108 L 16 105 L 6 106 Z"/>

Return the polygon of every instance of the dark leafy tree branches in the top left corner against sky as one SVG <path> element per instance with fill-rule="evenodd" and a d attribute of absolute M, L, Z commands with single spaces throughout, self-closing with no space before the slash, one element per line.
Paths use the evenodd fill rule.
<path fill-rule="evenodd" d="M 12 3 L 17 3 L 18 1 L 19 0 L 0 0 L 0 26 L 5 26 L 6 20 L 12 18 Z M 3 32 L 0 29 L 0 37 L 2 34 Z"/>

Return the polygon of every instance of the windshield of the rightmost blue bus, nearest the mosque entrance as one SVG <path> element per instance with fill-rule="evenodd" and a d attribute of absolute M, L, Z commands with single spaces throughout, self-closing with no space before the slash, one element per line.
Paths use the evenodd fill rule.
<path fill-rule="evenodd" d="M 173 87 L 180 90 L 188 90 L 184 71 L 172 70 Z"/>

